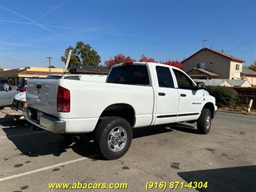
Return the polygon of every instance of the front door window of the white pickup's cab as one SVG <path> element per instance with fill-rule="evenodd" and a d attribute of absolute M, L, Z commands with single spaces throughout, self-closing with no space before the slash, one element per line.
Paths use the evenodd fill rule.
<path fill-rule="evenodd" d="M 177 83 L 180 89 L 192 90 L 195 87 L 191 79 L 189 79 L 189 77 L 186 76 L 186 74 L 174 68 L 173 68 L 173 72 L 175 74 L 175 77 L 177 79 Z"/>

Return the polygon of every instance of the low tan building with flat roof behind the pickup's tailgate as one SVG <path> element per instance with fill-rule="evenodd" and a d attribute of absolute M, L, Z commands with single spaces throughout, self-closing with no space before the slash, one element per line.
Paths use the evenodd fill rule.
<path fill-rule="evenodd" d="M 63 74 L 63 68 L 51 68 L 51 74 Z M 46 77 L 48 75 L 48 67 L 24 67 L 0 70 L 0 78 L 7 78 L 12 85 L 17 85 L 20 77 Z"/>

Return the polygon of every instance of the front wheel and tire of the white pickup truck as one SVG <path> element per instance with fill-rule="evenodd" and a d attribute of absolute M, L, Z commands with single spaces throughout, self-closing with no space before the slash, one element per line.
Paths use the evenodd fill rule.
<path fill-rule="evenodd" d="M 197 130 L 200 134 L 207 134 L 211 129 L 211 111 L 210 109 L 203 108 L 201 115 L 199 116 L 197 122 Z"/>

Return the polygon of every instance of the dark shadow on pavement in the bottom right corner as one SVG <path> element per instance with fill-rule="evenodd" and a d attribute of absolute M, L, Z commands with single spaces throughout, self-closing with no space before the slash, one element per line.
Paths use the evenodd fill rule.
<path fill-rule="evenodd" d="M 255 191 L 256 166 L 239 166 L 213 170 L 179 172 L 186 182 L 208 182 L 207 189 L 197 191 Z"/>

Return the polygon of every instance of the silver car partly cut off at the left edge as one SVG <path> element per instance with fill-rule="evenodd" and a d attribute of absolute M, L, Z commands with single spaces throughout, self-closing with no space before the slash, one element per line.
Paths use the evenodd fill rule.
<path fill-rule="evenodd" d="M 15 90 L 6 90 L 3 85 L 0 84 L 0 108 L 8 107 L 12 105 L 13 97 L 17 94 Z"/>

